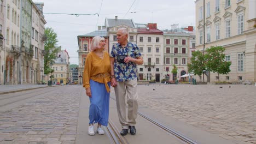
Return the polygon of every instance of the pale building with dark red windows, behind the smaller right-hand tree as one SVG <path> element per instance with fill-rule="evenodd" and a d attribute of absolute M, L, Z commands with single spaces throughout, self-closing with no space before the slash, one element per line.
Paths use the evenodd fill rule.
<path fill-rule="evenodd" d="M 191 43 L 193 43 L 193 35 L 183 29 L 174 28 L 164 32 L 165 79 L 174 81 L 180 79 L 182 75 L 188 74 Z M 177 74 L 171 73 L 173 65 L 177 67 Z"/>

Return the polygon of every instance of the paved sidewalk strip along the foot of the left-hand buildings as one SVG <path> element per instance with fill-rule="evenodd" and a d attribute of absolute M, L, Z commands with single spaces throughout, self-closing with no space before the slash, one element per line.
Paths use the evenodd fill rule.
<path fill-rule="evenodd" d="M 26 89 L 35 89 L 48 87 L 48 85 L 0 85 L 0 94 L 25 91 Z"/>

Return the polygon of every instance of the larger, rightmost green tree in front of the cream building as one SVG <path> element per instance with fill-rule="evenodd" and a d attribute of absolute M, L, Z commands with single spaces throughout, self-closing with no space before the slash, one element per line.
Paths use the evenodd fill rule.
<path fill-rule="evenodd" d="M 228 74 L 231 62 L 225 61 L 225 48 L 222 46 L 212 46 L 206 50 L 206 69 L 213 73 Z"/>

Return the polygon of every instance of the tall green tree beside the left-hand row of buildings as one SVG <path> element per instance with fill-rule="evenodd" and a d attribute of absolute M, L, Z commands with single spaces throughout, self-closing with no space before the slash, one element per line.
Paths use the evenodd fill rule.
<path fill-rule="evenodd" d="M 57 34 L 52 28 L 46 28 L 44 31 L 46 40 L 44 41 L 44 74 L 53 73 L 51 65 L 54 64 L 54 61 L 57 57 L 57 53 L 61 51 L 61 46 L 58 46 L 57 43 Z"/>

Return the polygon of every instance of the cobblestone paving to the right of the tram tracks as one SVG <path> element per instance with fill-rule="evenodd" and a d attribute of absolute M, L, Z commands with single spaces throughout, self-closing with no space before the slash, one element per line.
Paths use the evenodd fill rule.
<path fill-rule="evenodd" d="M 222 87 L 222 88 L 220 88 Z M 139 85 L 139 105 L 236 143 L 256 143 L 254 85 Z"/>

